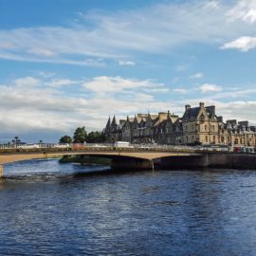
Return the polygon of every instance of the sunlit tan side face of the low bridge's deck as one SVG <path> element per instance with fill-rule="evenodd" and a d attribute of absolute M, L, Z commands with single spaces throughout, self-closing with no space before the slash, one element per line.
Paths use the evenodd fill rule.
<path fill-rule="evenodd" d="M 101 157 L 108 157 L 111 158 L 112 156 L 129 156 L 129 157 L 136 157 L 142 158 L 147 160 L 153 160 L 159 157 L 166 157 L 166 156 L 177 156 L 177 155 L 202 155 L 198 153 L 177 153 L 177 152 L 119 152 L 119 151 L 62 151 L 62 152 L 51 152 L 44 154 L 43 152 L 15 152 L 15 153 L 5 153 L 0 155 L 0 165 L 29 160 L 29 159 L 36 159 L 36 158 L 46 158 L 46 157 L 61 157 L 63 155 L 97 155 Z"/>

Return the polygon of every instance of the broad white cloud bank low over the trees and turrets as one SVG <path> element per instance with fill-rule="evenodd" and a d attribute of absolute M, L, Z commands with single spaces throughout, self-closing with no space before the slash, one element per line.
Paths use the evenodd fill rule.
<path fill-rule="evenodd" d="M 113 113 L 134 115 L 148 109 L 168 109 L 171 104 L 155 100 L 151 90 L 165 88 L 151 80 L 96 77 L 84 82 L 85 85 L 82 80 L 78 82 L 79 94 L 62 92 L 62 85 L 75 82 L 78 81 L 27 77 L 1 84 L 0 108 L 5 109 L 0 113 L 2 135 L 18 133 L 20 136 L 39 130 L 70 134 L 79 125 L 101 130 Z M 98 93 L 98 86 L 102 93 Z"/>

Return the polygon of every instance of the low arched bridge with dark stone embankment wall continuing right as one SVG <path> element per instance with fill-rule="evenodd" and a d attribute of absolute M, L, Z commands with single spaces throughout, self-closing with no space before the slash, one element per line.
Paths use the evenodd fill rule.
<path fill-rule="evenodd" d="M 192 169 L 202 167 L 220 167 L 234 169 L 255 169 L 256 154 L 237 154 L 223 152 L 156 152 L 156 151 L 33 151 L 33 152 L 2 152 L 0 153 L 0 176 L 3 176 L 3 165 L 11 162 L 61 157 L 64 155 L 81 155 L 89 157 L 105 157 L 112 161 L 114 170 L 153 170 L 153 169 Z"/>

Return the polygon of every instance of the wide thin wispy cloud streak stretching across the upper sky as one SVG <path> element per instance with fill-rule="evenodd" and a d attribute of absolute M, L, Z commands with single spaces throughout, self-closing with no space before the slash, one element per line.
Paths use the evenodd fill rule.
<path fill-rule="evenodd" d="M 255 1 L 242 2 L 249 3 L 250 9 L 239 19 L 254 22 Z M 224 1 L 187 1 L 108 14 L 90 12 L 69 27 L 2 29 L 0 58 L 93 66 L 112 59 L 119 64 L 134 64 L 122 60 L 139 53 L 166 55 L 175 46 L 184 44 L 219 46 L 243 33 L 255 35 L 256 27 L 230 22 L 230 17 L 235 16 L 232 13 L 237 12 L 236 7 Z M 88 21 L 93 26 L 88 27 Z M 177 67 L 177 71 L 183 70 L 184 67 Z"/>

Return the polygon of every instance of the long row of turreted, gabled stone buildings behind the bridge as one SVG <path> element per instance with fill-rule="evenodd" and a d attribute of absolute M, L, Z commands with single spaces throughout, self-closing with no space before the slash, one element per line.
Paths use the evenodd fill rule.
<path fill-rule="evenodd" d="M 215 113 L 215 106 L 185 106 L 182 118 L 168 112 L 157 115 L 137 114 L 135 117 L 107 121 L 103 133 L 108 141 L 133 144 L 157 143 L 172 145 L 255 146 L 256 127 L 248 121 L 227 120 Z"/>

